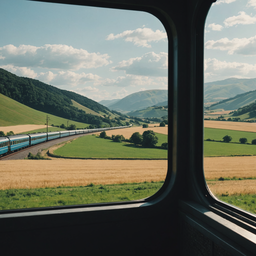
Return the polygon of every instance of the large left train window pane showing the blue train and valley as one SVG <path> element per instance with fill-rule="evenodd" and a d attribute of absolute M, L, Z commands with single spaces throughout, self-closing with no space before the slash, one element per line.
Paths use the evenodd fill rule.
<path fill-rule="evenodd" d="M 19 145 L 12 151 L 30 141 L 15 160 L 0 160 L 0 172 L 13 175 L 6 176 L 9 183 L 0 182 L 0 194 L 13 194 L 0 196 L 0 209 L 130 201 L 156 193 L 165 180 L 168 153 L 168 40 L 159 19 L 144 11 L 39 1 L 2 0 L 0 5 L 5 24 L 0 72 L 28 77 L 24 87 L 33 83 L 43 90 L 47 84 L 71 95 L 70 100 L 63 96 L 62 107 L 55 106 L 57 93 L 47 98 L 43 90 L 37 97 L 38 87 L 27 89 L 27 104 L 45 113 L 36 124 L 44 126 L 49 117 L 48 135 L 33 136 L 32 127 L 18 131 L 33 137 L 13 141 Z M 132 104 L 133 93 L 143 100 Z M 59 131 L 71 125 L 70 131 Z M 106 129 L 101 135 L 100 128 Z M 76 134 L 69 135 L 72 130 Z M 40 141 L 46 138 L 50 143 Z"/>

